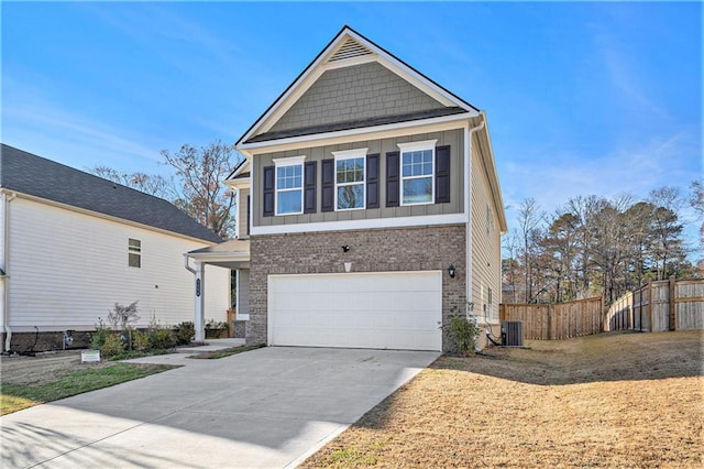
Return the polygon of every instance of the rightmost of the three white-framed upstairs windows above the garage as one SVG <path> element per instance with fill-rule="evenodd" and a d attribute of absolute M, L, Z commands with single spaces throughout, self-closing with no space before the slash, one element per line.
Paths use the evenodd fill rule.
<path fill-rule="evenodd" d="M 432 204 L 435 194 L 436 140 L 399 143 L 400 205 Z"/>

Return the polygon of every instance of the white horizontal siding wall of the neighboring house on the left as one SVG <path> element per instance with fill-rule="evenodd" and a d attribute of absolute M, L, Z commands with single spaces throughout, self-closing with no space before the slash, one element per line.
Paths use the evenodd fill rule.
<path fill-rule="evenodd" d="M 208 246 L 69 209 L 16 198 L 10 204 L 10 327 L 90 330 L 116 303 L 139 301 L 146 327 L 194 320 L 194 274 L 183 254 Z M 128 266 L 128 240 L 142 266 Z M 230 272 L 206 268 L 206 320 L 226 320 Z M 4 325 L 3 325 L 4 326 Z"/>

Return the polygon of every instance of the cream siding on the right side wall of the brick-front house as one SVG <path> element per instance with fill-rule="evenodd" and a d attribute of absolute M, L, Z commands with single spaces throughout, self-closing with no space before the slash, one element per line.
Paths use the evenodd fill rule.
<path fill-rule="evenodd" d="M 488 177 L 479 154 L 476 140 L 472 144 L 472 181 L 470 186 L 472 190 L 472 302 L 474 302 L 474 315 L 497 323 L 502 292 L 501 225 L 492 201 Z M 488 216 L 487 208 L 490 209 Z M 488 305 L 487 288 L 492 288 L 491 306 Z M 486 315 L 484 305 L 487 309 Z"/>

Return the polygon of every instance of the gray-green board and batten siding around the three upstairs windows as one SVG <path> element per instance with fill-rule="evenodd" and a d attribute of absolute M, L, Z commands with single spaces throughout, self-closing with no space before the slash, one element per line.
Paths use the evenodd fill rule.
<path fill-rule="evenodd" d="M 252 215 L 253 226 L 264 227 L 323 221 L 365 220 L 376 218 L 462 214 L 464 211 L 464 199 L 462 195 L 464 190 L 463 132 L 463 129 L 453 129 L 448 131 L 420 133 L 399 138 L 369 140 L 327 146 L 304 148 L 285 152 L 255 154 L 252 159 L 252 174 L 255 178 L 255 194 L 252 195 L 252 206 L 255 207 L 254 214 Z M 386 207 L 386 153 L 397 152 L 398 143 L 420 142 L 426 140 L 437 140 L 436 146 L 450 145 L 450 203 L 405 207 Z M 364 148 L 369 149 L 366 152 L 367 155 L 380 155 L 380 208 L 326 212 L 320 211 L 322 204 L 322 190 L 320 189 L 322 171 L 320 162 L 322 160 L 332 159 L 332 152 Z M 264 167 L 273 165 L 274 159 L 285 159 L 299 155 L 305 155 L 306 162 L 317 162 L 318 171 L 316 178 L 318 189 L 316 192 L 316 212 L 264 217 L 262 212 L 262 177 L 264 174 Z"/>

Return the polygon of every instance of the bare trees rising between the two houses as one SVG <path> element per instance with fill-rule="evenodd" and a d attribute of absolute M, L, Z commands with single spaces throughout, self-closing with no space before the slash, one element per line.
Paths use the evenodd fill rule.
<path fill-rule="evenodd" d="M 223 184 L 240 163 L 234 145 L 220 141 L 196 148 L 184 144 L 177 152 L 162 150 L 163 164 L 174 174 L 120 172 L 109 166 L 89 168 L 92 174 L 169 200 L 221 239 L 234 237 L 234 194 Z"/>

